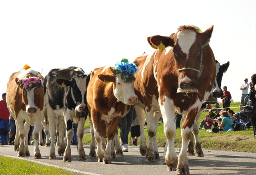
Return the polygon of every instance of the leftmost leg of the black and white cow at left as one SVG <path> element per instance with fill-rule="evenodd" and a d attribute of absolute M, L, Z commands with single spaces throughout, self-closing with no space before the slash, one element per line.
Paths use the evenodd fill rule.
<path fill-rule="evenodd" d="M 55 155 L 55 147 L 54 147 L 54 137 L 55 137 L 55 131 L 56 131 L 56 125 L 55 125 L 55 119 L 56 119 L 56 114 L 54 111 L 51 109 L 49 105 L 46 105 L 47 108 L 47 116 L 49 120 L 49 130 L 50 130 L 50 155 L 49 159 L 56 159 Z"/>

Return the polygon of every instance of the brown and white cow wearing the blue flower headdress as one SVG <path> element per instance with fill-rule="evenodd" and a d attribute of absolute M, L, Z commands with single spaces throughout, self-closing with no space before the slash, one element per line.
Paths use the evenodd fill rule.
<path fill-rule="evenodd" d="M 118 71 L 107 66 L 94 69 L 87 87 L 87 104 L 93 123 L 90 156 L 95 155 L 95 137 L 98 145 L 98 162 L 103 161 L 103 164 L 111 163 L 111 145 L 121 117 L 128 113 L 130 105 L 138 102 L 134 93 L 133 74 L 128 76 Z M 108 139 L 105 150 L 102 148 L 104 138 Z M 116 153 L 122 155 L 118 139 L 115 139 L 115 147 L 118 149 Z"/>

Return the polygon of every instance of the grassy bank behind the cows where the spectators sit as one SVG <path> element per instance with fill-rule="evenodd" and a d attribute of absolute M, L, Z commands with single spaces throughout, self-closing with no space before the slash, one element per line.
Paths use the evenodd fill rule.
<path fill-rule="evenodd" d="M 230 109 L 234 112 L 239 111 L 240 103 L 231 103 Z M 222 107 L 222 104 L 220 104 Z M 208 111 L 203 112 L 198 120 L 198 123 L 204 120 L 204 115 L 208 114 Z M 87 122 L 88 123 L 88 122 Z M 145 129 L 146 140 L 148 141 L 147 129 Z M 238 151 L 238 152 L 251 152 L 256 153 L 256 139 L 253 137 L 252 127 L 246 131 L 230 131 L 220 133 L 206 133 L 206 130 L 200 130 L 199 140 L 203 149 L 211 150 L 225 150 L 225 151 Z M 130 134 L 128 136 L 129 145 L 131 144 Z M 140 139 L 140 137 L 139 137 Z M 91 135 L 84 135 L 83 143 L 90 145 Z M 159 147 L 165 145 L 164 126 L 162 123 L 158 125 L 157 129 L 157 142 Z M 176 130 L 175 147 L 179 148 L 182 143 L 181 130 Z M 139 144 L 139 141 L 138 141 Z"/>

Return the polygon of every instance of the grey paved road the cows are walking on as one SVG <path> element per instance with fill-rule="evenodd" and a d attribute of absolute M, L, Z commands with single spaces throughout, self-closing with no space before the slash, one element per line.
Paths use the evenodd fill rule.
<path fill-rule="evenodd" d="M 129 152 L 124 156 L 112 159 L 112 164 L 98 163 L 97 157 L 89 157 L 89 145 L 84 145 L 86 160 L 78 161 L 76 146 L 72 147 L 72 162 L 63 162 L 62 156 L 56 155 L 56 160 L 49 160 L 49 147 L 41 146 L 42 159 L 33 159 L 33 156 L 25 157 L 29 161 L 36 161 L 44 165 L 62 167 L 78 174 L 88 175 L 175 175 L 176 172 L 166 171 L 166 165 L 162 163 L 164 148 L 159 147 L 160 159 L 146 163 L 145 157 L 140 155 L 138 147 L 128 147 Z M 29 146 L 30 155 L 33 155 L 34 146 Z M 190 174 L 208 175 L 254 175 L 256 174 L 256 153 L 239 153 L 229 151 L 203 150 L 204 157 L 188 156 Z M 57 147 L 56 147 L 56 153 Z M 178 149 L 176 149 L 178 156 Z M 0 146 L 0 155 L 16 157 L 14 146 Z"/>

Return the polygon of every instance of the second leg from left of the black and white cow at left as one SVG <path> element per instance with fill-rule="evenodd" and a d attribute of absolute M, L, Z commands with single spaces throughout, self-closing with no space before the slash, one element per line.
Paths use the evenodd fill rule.
<path fill-rule="evenodd" d="M 64 155 L 64 152 L 65 152 L 65 148 L 66 148 L 66 145 L 65 145 L 65 142 L 64 142 L 64 132 L 65 132 L 65 122 L 64 122 L 64 116 L 63 115 L 60 115 L 58 117 L 58 124 L 59 124 L 59 147 L 58 147 L 58 155 Z M 72 125 L 72 123 L 71 123 Z M 71 128 L 72 129 L 72 128 Z M 73 132 L 73 129 L 72 129 L 72 132 Z M 73 136 L 72 136 L 73 138 Z M 71 139 L 72 139 L 71 138 Z"/>

